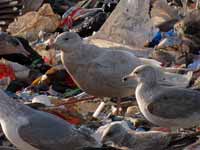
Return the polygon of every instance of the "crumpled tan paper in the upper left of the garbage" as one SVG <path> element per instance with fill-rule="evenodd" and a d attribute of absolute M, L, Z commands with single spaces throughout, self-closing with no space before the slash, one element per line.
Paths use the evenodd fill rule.
<path fill-rule="evenodd" d="M 37 40 L 40 31 L 53 32 L 60 24 L 50 4 L 44 4 L 37 12 L 31 11 L 12 22 L 7 31 L 14 36 L 24 37 L 29 41 Z"/>

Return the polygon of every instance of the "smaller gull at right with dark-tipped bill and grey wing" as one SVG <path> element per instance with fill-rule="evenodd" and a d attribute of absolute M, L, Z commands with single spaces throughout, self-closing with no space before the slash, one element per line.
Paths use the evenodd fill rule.
<path fill-rule="evenodd" d="M 191 127 L 200 122 L 200 92 L 160 85 L 156 70 L 149 65 L 137 67 L 124 77 L 135 79 L 139 108 L 150 122 L 163 127 Z"/>

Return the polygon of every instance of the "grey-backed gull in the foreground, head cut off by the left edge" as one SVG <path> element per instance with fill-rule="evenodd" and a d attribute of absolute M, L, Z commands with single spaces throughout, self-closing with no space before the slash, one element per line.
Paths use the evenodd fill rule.
<path fill-rule="evenodd" d="M 100 147 L 91 136 L 66 121 L 16 103 L 0 90 L 0 123 L 20 150 L 78 150 Z"/>

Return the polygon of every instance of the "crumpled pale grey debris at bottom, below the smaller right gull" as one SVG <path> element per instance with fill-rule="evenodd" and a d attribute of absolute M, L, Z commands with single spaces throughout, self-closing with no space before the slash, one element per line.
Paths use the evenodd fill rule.
<path fill-rule="evenodd" d="M 173 135 L 164 132 L 136 132 L 126 122 L 112 122 L 100 127 L 95 136 L 103 143 L 110 143 L 129 150 L 163 150 Z"/>

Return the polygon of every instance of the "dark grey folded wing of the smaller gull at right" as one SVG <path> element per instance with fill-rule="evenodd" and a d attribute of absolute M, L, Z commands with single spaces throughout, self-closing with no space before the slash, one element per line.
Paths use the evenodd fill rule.
<path fill-rule="evenodd" d="M 163 89 L 162 93 L 153 96 L 152 99 L 154 102 L 150 103 L 147 109 L 153 115 L 162 118 L 181 119 L 191 116 L 194 112 L 200 114 L 200 92 L 197 91 Z"/>

